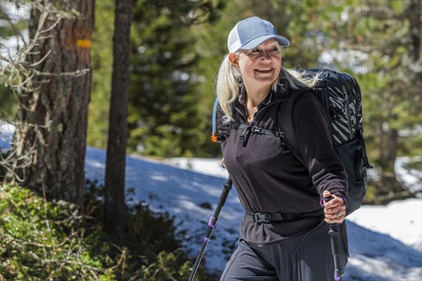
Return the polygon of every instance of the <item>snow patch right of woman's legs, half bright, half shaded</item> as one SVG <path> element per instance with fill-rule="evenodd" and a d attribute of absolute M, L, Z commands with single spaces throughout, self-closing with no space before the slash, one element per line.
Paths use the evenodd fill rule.
<path fill-rule="evenodd" d="M 348 216 L 345 280 L 422 280 L 421 214 L 421 200 L 409 199 Z"/>

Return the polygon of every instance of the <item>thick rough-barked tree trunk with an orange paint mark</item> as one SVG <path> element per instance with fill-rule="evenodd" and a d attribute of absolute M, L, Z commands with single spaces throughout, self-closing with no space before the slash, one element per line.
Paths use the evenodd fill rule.
<path fill-rule="evenodd" d="M 20 96 L 15 132 L 16 171 L 28 188 L 48 200 L 65 200 L 83 209 L 84 159 L 88 103 L 91 94 L 91 37 L 95 0 L 41 1 L 56 8 L 46 18 L 43 39 L 27 57 L 34 65 L 34 91 Z M 54 7 L 55 6 L 55 7 Z M 39 5 L 31 6 L 30 38 L 37 32 Z M 50 52 L 50 53 L 49 53 Z"/>

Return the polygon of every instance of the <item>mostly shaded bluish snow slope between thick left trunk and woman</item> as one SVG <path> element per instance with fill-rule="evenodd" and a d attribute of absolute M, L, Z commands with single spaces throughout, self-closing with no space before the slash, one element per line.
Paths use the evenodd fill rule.
<path fill-rule="evenodd" d="M 128 156 L 126 188 L 131 192 L 127 193 L 127 203 L 143 201 L 153 211 L 167 211 L 175 216 L 178 236 L 194 257 L 203 242 L 207 222 L 214 214 L 228 174 L 218 159 L 192 159 L 191 166 L 188 165 L 190 161 L 182 160 L 169 159 L 167 162 L 172 163 L 170 165 Z M 183 162 L 186 169 L 179 167 L 179 162 Z M 104 150 L 87 148 L 85 173 L 94 175 L 98 183 L 103 183 L 105 163 Z M 212 209 L 200 207 L 203 203 L 211 204 Z M 219 215 L 204 257 L 210 270 L 222 270 L 231 254 L 227 248 L 236 247 L 243 212 L 233 188 Z"/>

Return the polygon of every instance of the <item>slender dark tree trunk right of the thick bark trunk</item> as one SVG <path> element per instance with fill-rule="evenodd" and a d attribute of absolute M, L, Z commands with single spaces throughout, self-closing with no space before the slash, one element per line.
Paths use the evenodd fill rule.
<path fill-rule="evenodd" d="M 104 229 L 121 236 L 126 228 L 124 168 L 126 166 L 127 103 L 132 0 L 118 0 L 113 37 L 113 81 L 106 161 Z"/>

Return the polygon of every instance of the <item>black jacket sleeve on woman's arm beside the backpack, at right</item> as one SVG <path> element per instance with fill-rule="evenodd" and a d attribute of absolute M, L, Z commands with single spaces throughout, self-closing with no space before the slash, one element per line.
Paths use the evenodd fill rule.
<path fill-rule="evenodd" d="M 295 100 L 293 127 L 320 199 L 328 190 L 347 202 L 347 175 L 333 148 L 325 118 L 324 108 L 312 93 L 302 93 Z"/>

